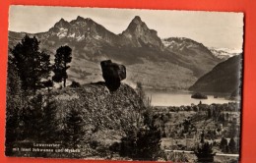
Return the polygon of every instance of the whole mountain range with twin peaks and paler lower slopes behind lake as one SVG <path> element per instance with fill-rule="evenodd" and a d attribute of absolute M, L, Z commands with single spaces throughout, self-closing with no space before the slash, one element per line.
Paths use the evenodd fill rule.
<path fill-rule="evenodd" d="M 25 32 L 9 32 L 9 47 L 14 47 Z M 217 57 L 202 43 L 188 38 L 160 39 L 136 16 L 120 34 L 115 34 L 92 19 L 61 19 L 48 31 L 27 33 L 40 40 L 40 49 L 54 59 L 56 49 L 69 45 L 73 49 L 69 81 L 102 81 L 99 62 L 111 59 L 127 68 L 130 84 L 141 81 L 152 89 L 187 89 L 210 72 L 224 58 Z"/>

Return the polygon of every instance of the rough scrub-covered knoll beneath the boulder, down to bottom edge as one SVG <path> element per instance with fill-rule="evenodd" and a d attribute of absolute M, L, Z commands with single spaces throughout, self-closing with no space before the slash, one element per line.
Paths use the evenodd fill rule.
<path fill-rule="evenodd" d="M 138 123 L 143 120 L 139 110 L 144 106 L 135 90 L 125 83 L 111 93 L 104 82 L 96 82 L 43 93 L 43 98 L 48 97 L 50 107 L 46 105 L 38 110 L 40 105 L 37 102 L 36 108 L 33 108 L 36 113 L 40 113 L 33 117 L 40 123 L 31 126 L 31 118 L 27 120 L 29 124 L 24 131 L 30 135 L 21 134 L 14 143 L 7 145 L 7 151 L 12 150 L 11 146 L 34 147 L 33 142 L 38 141 L 61 144 L 56 150 L 72 148 L 79 149 L 79 152 L 12 151 L 8 156 L 106 158 L 110 155 L 109 147 L 120 142 L 128 131 L 138 127 Z M 45 118 L 40 117 L 44 114 Z M 36 126 L 43 130 L 36 130 Z"/>

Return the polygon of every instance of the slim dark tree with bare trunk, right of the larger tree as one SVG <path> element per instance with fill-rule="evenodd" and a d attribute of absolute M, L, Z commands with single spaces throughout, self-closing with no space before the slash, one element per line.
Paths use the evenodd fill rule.
<path fill-rule="evenodd" d="M 72 49 L 69 46 L 61 46 L 56 50 L 52 81 L 63 81 L 64 87 L 66 87 L 66 80 L 68 79 L 67 70 L 70 68 L 68 65 L 71 60 Z"/>

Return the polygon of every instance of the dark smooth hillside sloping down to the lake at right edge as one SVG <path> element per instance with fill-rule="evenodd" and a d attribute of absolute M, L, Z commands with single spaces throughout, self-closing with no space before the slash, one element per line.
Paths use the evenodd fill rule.
<path fill-rule="evenodd" d="M 196 81 L 189 89 L 202 92 L 232 93 L 241 82 L 242 57 L 231 57 Z"/>

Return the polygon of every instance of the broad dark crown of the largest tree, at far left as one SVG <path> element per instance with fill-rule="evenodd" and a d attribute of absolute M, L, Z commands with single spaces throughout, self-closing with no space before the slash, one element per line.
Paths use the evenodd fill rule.
<path fill-rule="evenodd" d="M 25 91 L 43 87 L 42 79 L 47 79 L 50 73 L 50 56 L 39 51 L 39 41 L 35 36 L 25 35 L 13 49 L 12 64 L 16 67 L 21 80 L 22 89 Z"/>

